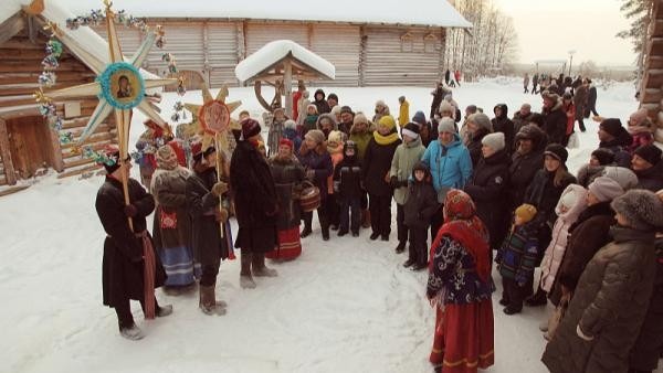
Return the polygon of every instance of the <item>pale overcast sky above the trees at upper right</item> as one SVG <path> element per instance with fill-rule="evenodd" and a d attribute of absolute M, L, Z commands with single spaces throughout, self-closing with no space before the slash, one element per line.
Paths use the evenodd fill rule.
<path fill-rule="evenodd" d="M 621 0 L 493 0 L 514 19 L 522 63 L 565 60 L 575 50 L 573 65 L 631 65 L 630 41 L 614 35 L 629 28 Z"/>

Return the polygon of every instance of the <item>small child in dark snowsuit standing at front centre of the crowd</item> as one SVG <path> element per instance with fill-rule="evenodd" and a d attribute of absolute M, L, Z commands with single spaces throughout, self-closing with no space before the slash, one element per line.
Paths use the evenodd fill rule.
<path fill-rule="evenodd" d="M 361 162 L 357 153 L 357 143 L 348 140 L 343 148 L 343 160 L 334 170 L 334 192 L 338 195 L 337 202 L 340 204 L 339 237 L 345 236 L 348 228 L 352 231 L 352 237 L 359 236 L 359 211 L 364 190 L 361 189 Z"/>

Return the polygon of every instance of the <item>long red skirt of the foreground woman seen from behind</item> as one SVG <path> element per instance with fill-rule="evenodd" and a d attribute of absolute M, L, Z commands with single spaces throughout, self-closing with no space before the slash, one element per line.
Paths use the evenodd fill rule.
<path fill-rule="evenodd" d="M 438 308 L 430 362 L 444 373 L 474 373 L 495 363 L 491 299 Z"/>

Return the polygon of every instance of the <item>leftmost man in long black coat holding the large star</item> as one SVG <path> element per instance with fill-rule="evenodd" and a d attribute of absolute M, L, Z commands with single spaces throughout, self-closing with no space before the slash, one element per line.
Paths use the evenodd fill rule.
<path fill-rule="evenodd" d="M 158 305 L 154 290 L 147 295 L 151 299 L 146 299 L 146 271 L 154 276 L 150 280 L 155 288 L 166 281 L 166 271 L 147 232 L 146 217 L 155 210 L 155 200 L 138 181 L 129 179 L 129 157 L 120 160 L 119 149 L 114 146 L 108 146 L 103 152 L 106 180 L 97 192 L 95 207 L 106 232 L 102 264 L 104 305 L 115 309 L 122 337 L 139 340 L 145 334 L 134 322 L 130 299 L 140 301 L 146 318 L 172 313 L 172 306 Z M 123 179 L 128 184 L 128 204 L 125 203 Z M 146 265 L 152 267 L 145 268 Z M 155 315 L 150 315 L 152 311 Z"/>

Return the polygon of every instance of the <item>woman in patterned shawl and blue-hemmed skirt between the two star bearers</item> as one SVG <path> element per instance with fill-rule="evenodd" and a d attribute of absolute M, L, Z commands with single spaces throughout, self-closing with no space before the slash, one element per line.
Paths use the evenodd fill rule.
<path fill-rule="evenodd" d="M 164 291 L 177 294 L 194 284 L 191 219 L 187 205 L 187 179 L 191 171 L 178 163 L 171 145 L 157 150 L 157 170 L 150 190 L 155 196 L 155 249 L 168 278 Z M 200 274 L 197 274 L 198 276 Z"/>

